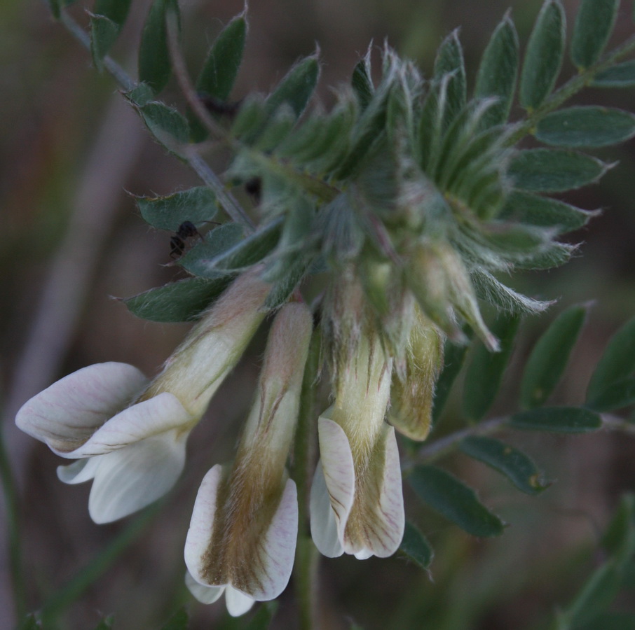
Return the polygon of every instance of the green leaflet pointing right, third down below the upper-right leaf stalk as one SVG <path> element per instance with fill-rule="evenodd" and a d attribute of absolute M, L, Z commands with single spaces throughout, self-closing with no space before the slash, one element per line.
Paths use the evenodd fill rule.
<path fill-rule="evenodd" d="M 556 234 L 564 234 L 584 227 L 599 212 L 582 210 L 556 199 L 514 190 L 507 197 L 499 218 L 551 228 Z"/>

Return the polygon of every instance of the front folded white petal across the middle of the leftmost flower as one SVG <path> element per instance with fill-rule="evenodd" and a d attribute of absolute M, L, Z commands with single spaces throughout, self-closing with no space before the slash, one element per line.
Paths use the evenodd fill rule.
<path fill-rule="evenodd" d="M 102 455 L 153 435 L 182 428 L 192 421 L 192 416 L 179 399 L 171 393 L 163 392 L 113 416 L 81 447 L 58 454 L 71 458 Z"/>

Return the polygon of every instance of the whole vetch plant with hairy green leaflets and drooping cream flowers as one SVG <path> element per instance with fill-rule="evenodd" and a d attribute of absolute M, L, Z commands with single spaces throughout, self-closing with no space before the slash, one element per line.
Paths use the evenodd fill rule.
<path fill-rule="evenodd" d="M 554 304 L 514 290 L 513 272 L 564 264 L 578 246 L 562 235 L 597 214 L 550 195 L 598 181 L 613 163 L 589 151 L 635 135 L 629 111 L 567 104 L 589 85 L 635 86 L 635 36 L 606 51 L 619 1 L 582 0 L 568 45 L 564 8 L 546 0 L 524 55 L 506 14 L 474 85 L 457 31 L 439 46 L 431 76 L 388 45 L 369 48 L 329 111 L 311 101 L 318 53 L 294 64 L 271 94 L 233 99 L 246 9 L 191 79 L 177 0 L 153 1 L 132 78 L 109 57 L 129 0 L 97 0 L 86 30 L 67 2 L 49 3 L 151 136 L 200 177 L 188 190 L 135 198 L 153 228 L 201 235 L 172 240 L 170 263 L 184 279 L 123 300 L 140 318 L 196 323 L 154 379 L 121 363 L 84 367 L 27 401 L 18 426 L 78 460 L 58 474 L 68 483 L 93 479 L 96 523 L 128 516 L 177 483 L 186 438 L 259 326 L 269 328 L 235 458 L 207 472 L 189 531 L 175 533 L 198 601 L 224 594 L 240 616 L 278 598 L 294 572 L 300 624 L 314 627 L 315 549 L 359 560 L 400 552 L 430 566 L 430 543 L 407 521 L 418 507 L 404 502 L 402 477 L 406 496 L 467 533 L 493 537 L 503 519 L 433 462 L 460 450 L 538 495 L 549 486 L 538 465 L 493 434 L 632 433 L 621 413 L 635 404 L 632 321 L 608 345 L 584 404 L 548 405 L 586 305 L 561 311 L 535 344 L 517 407 L 488 417 L 521 318 Z M 567 45 L 577 73 L 560 83 Z M 161 100 L 172 73 L 180 108 Z M 218 173 L 207 160 L 214 149 L 228 156 Z M 470 344 L 465 423 L 439 435 Z M 326 396 L 318 384 L 327 384 Z M 555 619 L 558 628 L 608 618 L 634 536 L 624 498 L 603 541 L 610 588 L 596 574 Z"/>

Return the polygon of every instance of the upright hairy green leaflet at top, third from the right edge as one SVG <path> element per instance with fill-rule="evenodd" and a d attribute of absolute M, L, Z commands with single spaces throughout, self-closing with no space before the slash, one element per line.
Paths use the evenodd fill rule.
<path fill-rule="evenodd" d="M 518 66 L 518 34 L 507 13 L 485 48 L 474 87 L 474 97 L 497 99 L 485 113 L 484 127 L 501 125 L 507 120 L 514 99 Z"/>

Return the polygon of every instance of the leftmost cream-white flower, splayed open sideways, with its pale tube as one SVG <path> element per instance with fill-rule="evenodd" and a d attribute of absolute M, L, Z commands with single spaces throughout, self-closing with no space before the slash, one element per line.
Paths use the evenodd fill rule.
<path fill-rule="evenodd" d="M 163 496 L 177 481 L 186 439 L 264 318 L 270 286 L 238 277 L 149 381 L 126 363 L 69 374 L 22 406 L 15 422 L 56 454 L 62 482 L 93 479 L 88 512 L 108 523 Z"/>

